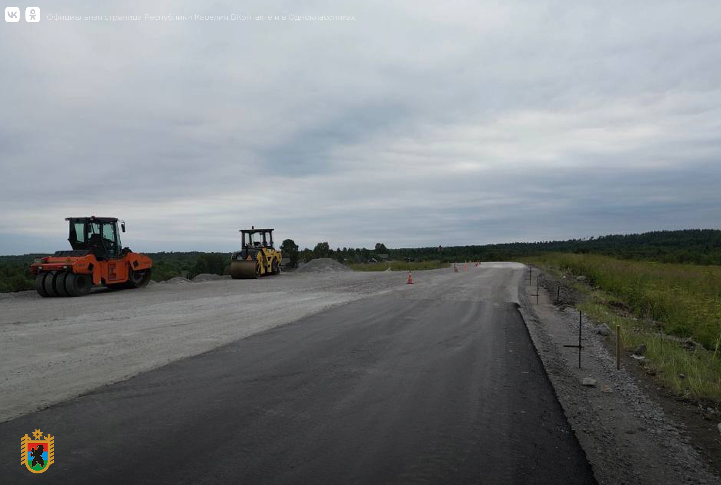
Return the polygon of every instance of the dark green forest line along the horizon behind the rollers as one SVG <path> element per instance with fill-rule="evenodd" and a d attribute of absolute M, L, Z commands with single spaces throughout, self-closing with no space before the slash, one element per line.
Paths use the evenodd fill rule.
<path fill-rule="evenodd" d="M 690 264 L 721 265 L 721 231 L 687 229 L 684 231 L 653 231 L 640 234 L 568 239 L 566 241 L 513 242 L 479 246 L 431 246 L 389 249 L 377 243 L 368 248 L 332 249 L 327 241 L 313 249 L 299 249 L 292 239 L 280 245 L 288 266 L 317 258 L 332 258 L 343 264 L 366 263 L 371 259 L 396 261 L 508 261 L 520 257 L 539 256 L 548 252 L 605 254 L 620 259 Z M 156 252 L 146 253 L 153 259 L 153 280 L 164 281 L 176 276 L 194 277 L 201 273 L 229 274 L 230 254 L 219 252 Z M 0 293 L 33 290 L 35 277 L 28 267 L 36 257 L 47 254 L 0 256 Z"/>

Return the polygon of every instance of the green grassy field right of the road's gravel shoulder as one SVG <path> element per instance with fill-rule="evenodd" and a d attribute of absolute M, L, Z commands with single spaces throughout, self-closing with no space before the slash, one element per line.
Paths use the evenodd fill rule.
<path fill-rule="evenodd" d="M 626 349 L 645 344 L 647 369 L 671 391 L 721 403 L 721 267 L 593 254 L 545 254 L 533 263 L 585 276 L 588 284 L 574 283 L 589 297 L 581 311 L 622 326 Z"/>

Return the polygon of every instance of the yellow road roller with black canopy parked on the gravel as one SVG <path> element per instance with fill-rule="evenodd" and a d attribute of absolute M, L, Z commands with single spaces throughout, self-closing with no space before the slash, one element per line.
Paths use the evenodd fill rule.
<path fill-rule="evenodd" d="M 243 249 L 231 254 L 230 275 L 248 280 L 280 273 L 280 251 L 273 248 L 273 229 L 241 229 Z"/>

